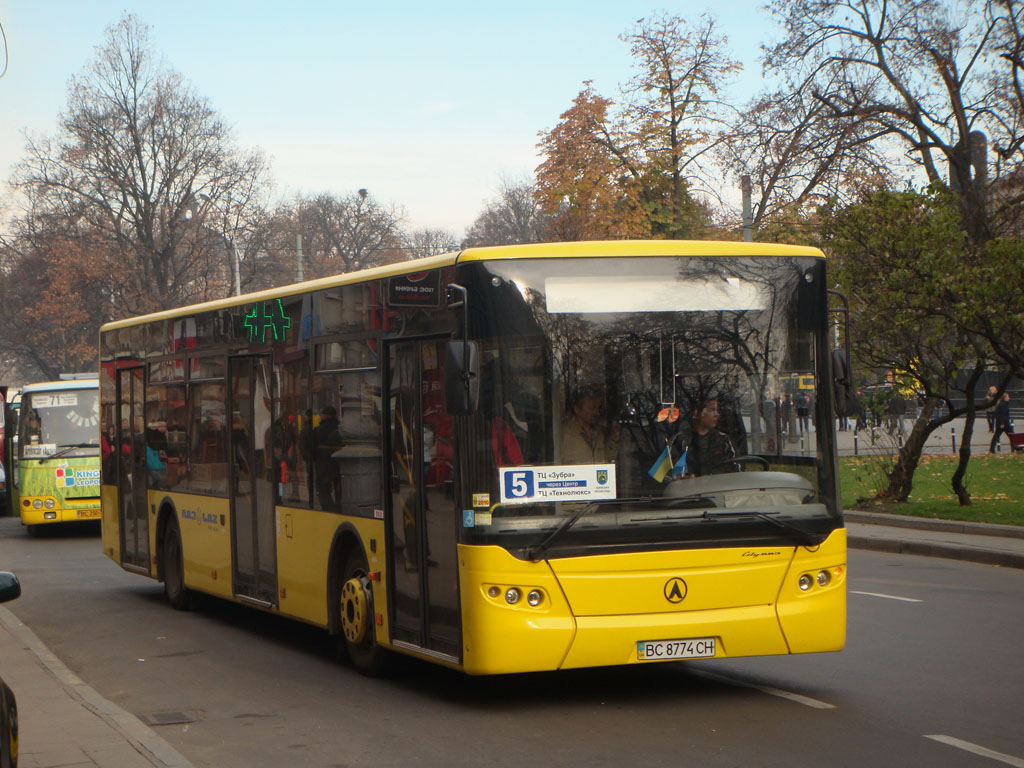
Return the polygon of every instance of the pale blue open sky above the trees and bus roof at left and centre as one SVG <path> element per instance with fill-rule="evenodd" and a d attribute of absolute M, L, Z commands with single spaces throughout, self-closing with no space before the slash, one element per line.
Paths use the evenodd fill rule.
<path fill-rule="evenodd" d="M 777 37 L 762 4 L 0 0 L 0 180 L 26 132 L 55 135 L 69 79 L 128 11 L 238 145 L 270 159 L 276 199 L 367 188 L 410 228 L 461 237 L 503 179 L 532 173 L 538 133 L 584 81 L 616 95 L 632 75 L 618 36 L 641 17 L 711 12 L 744 65 L 733 93 L 753 96 L 759 46 Z"/>

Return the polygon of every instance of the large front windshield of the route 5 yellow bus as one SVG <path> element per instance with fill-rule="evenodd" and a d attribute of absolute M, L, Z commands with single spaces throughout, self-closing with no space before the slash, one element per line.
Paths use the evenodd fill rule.
<path fill-rule="evenodd" d="M 465 541 L 538 559 L 842 525 L 821 259 L 461 268 L 483 297 Z"/>

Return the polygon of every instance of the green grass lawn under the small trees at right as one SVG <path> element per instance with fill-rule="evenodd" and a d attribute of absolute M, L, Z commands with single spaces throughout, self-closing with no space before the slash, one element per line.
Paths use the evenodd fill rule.
<path fill-rule="evenodd" d="M 844 509 L 1024 525 L 1024 456 L 983 454 L 971 457 L 964 478 L 971 494 L 970 507 L 959 506 L 950 485 L 956 469 L 955 456 L 923 456 L 913 475 L 913 492 L 906 504 L 871 502 L 870 498 L 886 485 L 885 473 L 893 458 L 840 459 Z"/>

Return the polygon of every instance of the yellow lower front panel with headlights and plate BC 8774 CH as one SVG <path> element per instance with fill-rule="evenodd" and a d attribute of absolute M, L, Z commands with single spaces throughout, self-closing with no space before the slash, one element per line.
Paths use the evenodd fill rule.
<path fill-rule="evenodd" d="M 460 561 L 463 669 L 472 675 L 837 651 L 846 640 L 842 528 L 812 550 L 526 563 L 499 548 L 462 546 Z M 824 586 L 800 586 L 802 577 L 822 571 Z M 676 600 L 677 583 L 679 603 L 660 605 Z M 691 594 L 683 594 L 684 584 Z M 510 589 L 520 595 L 514 603 Z M 530 592 L 541 596 L 536 606 L 524 599 Z M 674 655 L 680 651 L 691 655 Z"/>

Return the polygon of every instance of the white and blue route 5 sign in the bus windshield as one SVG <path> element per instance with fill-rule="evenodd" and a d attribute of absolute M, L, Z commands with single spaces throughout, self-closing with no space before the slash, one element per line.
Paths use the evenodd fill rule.
<path fill-rule="evenodd" d="M 614 464 L 501 467 L 502 503 L 592 502 L 615 498 Z"/>

